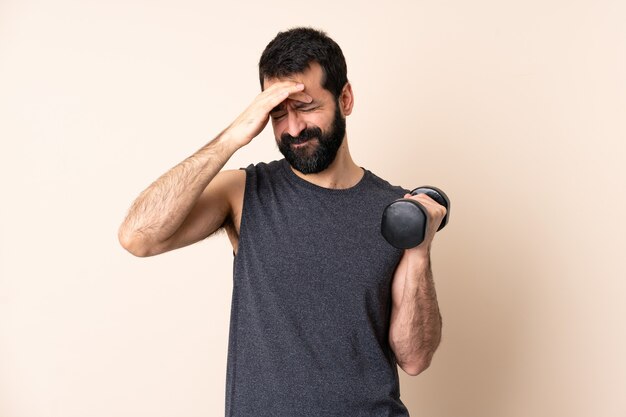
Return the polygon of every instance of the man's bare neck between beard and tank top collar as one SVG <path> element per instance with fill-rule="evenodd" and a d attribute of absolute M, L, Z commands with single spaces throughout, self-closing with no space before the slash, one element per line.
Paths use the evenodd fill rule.
<path fill-rule="evenodd" d="M 334 189 L 354 187 L 361 181 L 365 171 L 352 160 L 347 139 L 344 138 L 335 160 L 324 171 L 316 174 L 303 174 L 293 167 L 290 167 L 291 170 L 300 178 L 320 187 Z"/>

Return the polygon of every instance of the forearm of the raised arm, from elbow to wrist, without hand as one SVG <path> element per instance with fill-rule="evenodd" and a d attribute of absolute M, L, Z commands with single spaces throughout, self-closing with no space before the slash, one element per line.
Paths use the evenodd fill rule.
<path fill-rule="evenodd" d="M 237 149 L 223 132 L 161 175 L 133 202 L 119 228 L 120 241 L 149 246 L 172 236 Z"/>

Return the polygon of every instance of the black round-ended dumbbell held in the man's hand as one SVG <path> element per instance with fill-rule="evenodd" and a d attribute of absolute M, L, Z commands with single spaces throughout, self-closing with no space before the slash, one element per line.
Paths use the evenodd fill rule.
<path fill-rule="evenodd" d="M 450 217 L 450 199 L 439 188 L 424 186 L 411 191 L 411 195 L 426 194 L 447 210 L 437 231 L 443 229 Z M 398 249 L 410 249 L 424 241 L 427 211 L 415 200 L 401 198 L 389 204 L 383 211 L 380 232 L 392 246 Z"/>

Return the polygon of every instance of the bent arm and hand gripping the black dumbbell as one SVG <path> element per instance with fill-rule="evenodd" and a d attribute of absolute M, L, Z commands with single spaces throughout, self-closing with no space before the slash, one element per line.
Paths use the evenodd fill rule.
<path fill-rule="evenodd" d="M 425 194 L 407 194 L 405 198 L 418 200 L 427 209 L 429 221 L 424 241 L 404 251 L 394 273 L 389 344 L 398 365 L 415 376 L 430 366 L 441 341 L 441 314 L 430 267 L 430 247 L 446 209 Z"/>

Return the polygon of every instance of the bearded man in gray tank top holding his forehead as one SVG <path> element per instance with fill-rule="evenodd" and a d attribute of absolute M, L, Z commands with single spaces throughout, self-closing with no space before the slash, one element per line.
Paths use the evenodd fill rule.
<path fill-rule="evenodd" d="M 353 162 L 352 87 L 325 33 L 279 33 L 259 75 L 250 106 L 141 193 L 120 242 L 153 256 L 228 233 L 227 417 L 408 416 L 396 364 L 417 375 L 439 344 L 430 247 L 445 208 Z M 285 159 L 220 171 L 270 119 Z M 403 196 L 430 218 L 405 251 L 380 234 L 384 207 Z"/>

